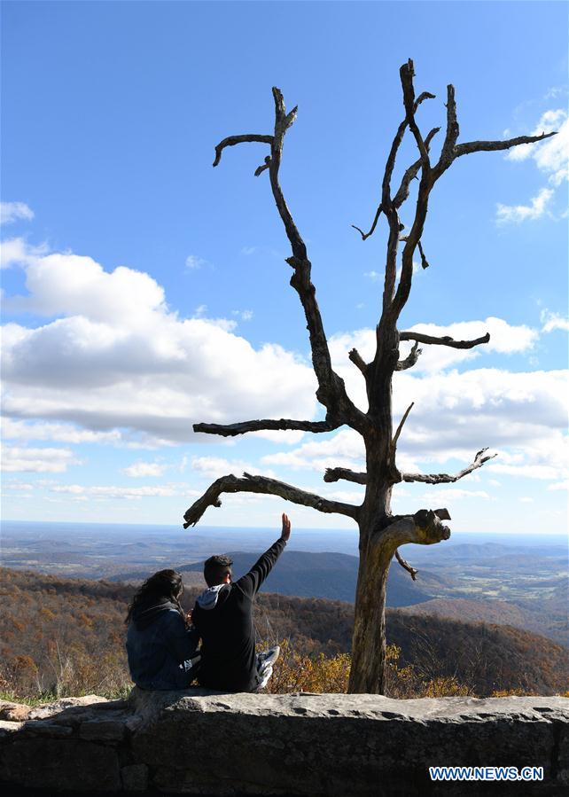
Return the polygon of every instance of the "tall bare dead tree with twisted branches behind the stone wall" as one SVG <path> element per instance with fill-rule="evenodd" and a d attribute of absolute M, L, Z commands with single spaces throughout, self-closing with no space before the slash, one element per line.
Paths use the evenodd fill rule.
<path fill-rule="evenodd" d="M 453 340 L 449 337 L 436 338 L 419 332 L 400 332 L 397 322 L 401 310 L 409 298 L 413 278 L 413 258 L 418 251 L 423 268 L 429 263 L 421 243 L 429 197 L 434 185 L 450 166 L 463 155 L 472 152 L 496 152 L 512 146 L 541 141 L 552 133 L 541 136 L 521 136 L 505 141 L 471 141 L 458 143 L 458 121 L 456 119 L 455 90 L 447 87 L 447 121 L 440 156 L 432 161 L 431 144 L 439 128 L 432 129 L 424 136 L 417 125 L 416 115 L 419 105 L 434 95 L 427 91 L 416 98 L 413 85 L 414 69 L 411 60 L 400 70 L 401 88 L 405 116 L 397 132 L 386 160 L 386 168 L 381 183 L 381 197 L 370 231 L 357 229 L 365 240 L 375 231 L 381 215 L 385 216 L 388 228 L 386 246 L 385 282 L 383 288 L 381 316 L 376 331 L 376 350 L 370 363 L 366 363 L 359 353 L 352 349 L 350 360 L 362 372 L 368 396 L 369 409 L 363 412 L 347 395 L 343 379 L 332 369 L 331 356 L 323 321 L 316 303 L 316 289 L 310 278 L 311 263 L 307 247 L 300 237 L 291 211 L 284 199 L 279 184 L 279 168 L 283 153 L 284 136 L 296 119 L 297 108 L 286 113 L 283 95 L 273 89 L 275 100 L 275 129 L 271 135 L 246 134 L 224 138 L 215 147 L 214 166 L 220 162 L 223 150 L 228 146 L 245 142 L 258 142 L 270 145 L 270 154 L 264 159 L 255 176 L 269 171 L 269 181 L 278 213 L 284 223 L 284 231 L 290 242 L 292 254 L 286 262 L 292 268 L 291 285 L 298 293 L 308 324 L 308 334 L 312 349 L 312 363 L 318 387 L 316 397 L 326 410 L 323 421 L 300 421 L 280 418 L 250 420 L 244 423 L 195 424 L 196 432 L 235 436 L 260 429 L 294 429 L 305 432 L 331 432 L 340 426 L 349 426 L 362 435 L 366 452 L 365 473 L 353 473 L 345 468 L 331 468 L 324 474 L 324 481 L 344 479 L 365 485 L 365 496 L 360 506 L 332 501 L 313 493 L 308 493 L 282 481 L 264 476 L 244 473 L 242 478 L 232 474 L 217 479 L 184 515 L 184 527 L 195 525 L 208 506 L 220 506 L 222 493 L 251 492 L 281 496 L 295 504 L 312 506 L 319 512 L 337 512 L 355 520 L 360 531 L 360 564 L 355 597 L 355 628 L 352 645 L 352 670 L 350 692 L 384 691 L 384 671 L 386 661 L 385 603 L 386 580 L 389 565 L 394 555 L 401 566 L 414 578 L 415 568 L 410 566 L 398 553 L 398 548 L 407 543 L 431 545 L 448 539 L 450 531 L 442 520 L 449 520 L 446 509 L 419 509 L 406 515 L 393 515 L 391 496 L 394 484 L 401 481 L 423 481 L 427 484 L 440 484 L 462 479 L 467 473 L 483 465 L 490 457 L 484 456 L 487 449 L 476 454 L 471 465 L 460 473 L 401 473 L 396 465 L 397 442 L 403 424 L 409 415 L 405 412 L 395 432 L 392 417 L 392 380 L 396 371 L 411 368 L 417 363 L 421 350 L 418 344 L 448 346 L 452 348 L 472 348 L 487 343 L 486 334 L 477 340 Z M 396 191 L 392 187 L 394 165 L 401 142 L 410 132 L 417 145 L 418 158 L 405 170 L 401 184 Z M 411 183 L 418 180 L 417 199 L 412 208 L 413 221 L 409 233 L 401 237 L 403 225 L 400 208 L 409 199 Z M 401 249 L 401 276 L 397 278 L 397 267 Z M 409 356 L 400 358 L 399 346 L 404 340 L 413 341 Z M 411 405 L 412 406 L 412 405 Z"/>

